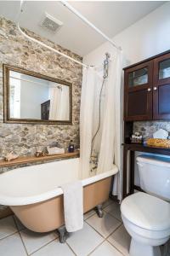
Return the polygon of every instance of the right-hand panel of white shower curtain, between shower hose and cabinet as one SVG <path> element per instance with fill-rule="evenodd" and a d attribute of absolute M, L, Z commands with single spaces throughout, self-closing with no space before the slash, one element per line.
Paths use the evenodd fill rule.
<path fill-rule="evenodd" d="M 122 200 L 122 114 L 121 114 L 122 52 L 117 50 L 110 62 L 109 76 L 105 81 L 105 116 L 103 119 L 99 150 L 98 172 L 111 170 L 112 164 L 119 169 L 114 177 L 112 194 Z"/>

